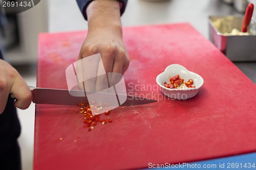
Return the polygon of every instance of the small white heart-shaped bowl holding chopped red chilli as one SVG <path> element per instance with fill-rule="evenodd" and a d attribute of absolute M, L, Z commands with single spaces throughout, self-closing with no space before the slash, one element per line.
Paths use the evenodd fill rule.
<path fill-rule="evenodd" d="M 170 83 L 170 78 L 179 75 L 180 79 L 184 80 L 184 83 L 181 83 L 180 87 L 178 88 L 167 88 L 164 86 L 164 83 Z M 188 88 L 185 85 L 189 79 L 194 81 L 193 88 Z M 160 75 L 156 78 L 157 84 L 160 86 L 161 92 L 166 95 L 168 98 L 171 99 L 178 99 L 178 100 L 186 100 L 189 98 L 193 98 L 197 95 L 199 89 L 204 84 L 203 78 L 196 74 L 195 72 L 187 70 L 184 66 L 180 64 L 171 64 L 167 66 Z"/>

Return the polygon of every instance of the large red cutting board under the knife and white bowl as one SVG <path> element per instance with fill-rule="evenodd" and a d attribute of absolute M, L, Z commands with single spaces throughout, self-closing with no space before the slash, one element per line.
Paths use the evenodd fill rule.
<path fill-rule="evenodd" d="M 37 86 L 67 89 L 87 32 L 40 34 Z M 256 86 L 188 23 L 130 27 L 129 94 L 158 103 L 117 108 L 89 132 L 74 106 L 36 105 L 34 169 L 134 169 L 256 151 Z M 242 56 L 241 56 L 242 57 Z M 181 64 L 204 79 L 188 100 L 164 99 L 156 77 Z M 102 115 L 103 116 L 103 115 Z M 62 138 L 62 140 L 60 140 Z"/>

